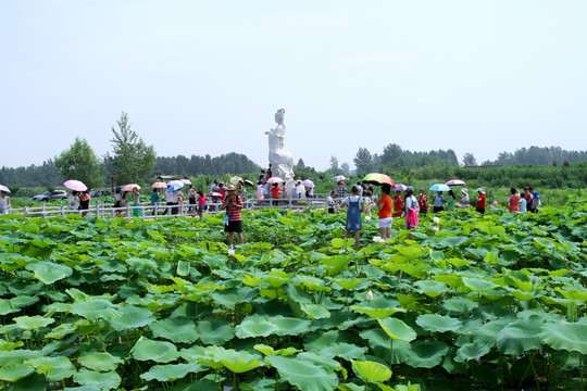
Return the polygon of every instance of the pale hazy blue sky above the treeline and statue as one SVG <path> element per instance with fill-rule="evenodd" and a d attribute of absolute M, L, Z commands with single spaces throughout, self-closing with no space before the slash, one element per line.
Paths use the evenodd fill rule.
<path fill-rule="evenodd" d="M 285 109 L 295 162 L 359 148 L 477 162 L 587 149 L 587 1 L 0 1 L 0 166 L 85 138 L 112 153 L 126 112 L 160 156 L 248 155 Z"/>

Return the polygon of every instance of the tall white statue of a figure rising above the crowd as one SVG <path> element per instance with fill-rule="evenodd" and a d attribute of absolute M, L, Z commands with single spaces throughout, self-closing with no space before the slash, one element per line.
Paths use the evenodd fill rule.
<path fill-rule="evenodd" d="M 286 127 L 284 125 L 285 110 L 279 109 L 275 113 L 277 126 L 274 129 L 265 131 L 268 135 L 270 163 L 273 176 L 285 180 L 287 192 L 290 194 L 294 189 L 294 157 L 285 147 Z"/>

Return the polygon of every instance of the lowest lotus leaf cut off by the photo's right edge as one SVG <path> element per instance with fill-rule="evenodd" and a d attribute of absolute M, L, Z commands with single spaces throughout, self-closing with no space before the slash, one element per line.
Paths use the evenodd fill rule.
<path fill-rule="evenodd" d="M 587 323 L 549 321 L 540 327 L 540 340 L 549 346 L 587 354 Z"/>

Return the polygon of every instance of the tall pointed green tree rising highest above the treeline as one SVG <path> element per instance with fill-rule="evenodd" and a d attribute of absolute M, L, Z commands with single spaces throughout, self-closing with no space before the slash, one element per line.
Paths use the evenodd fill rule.
<path fill-rule="evenodd" d="M 114 138 L 113 156 L 107 156 L 115 169 L 116 182 L 130 184 L 148 178 L 155 164 L 157 155 L 153 146 L 147 146 L 137 133 L 130 129 L 128 114 L 123 112 L 116 122 L 118 130 L 112 127 Z"/>

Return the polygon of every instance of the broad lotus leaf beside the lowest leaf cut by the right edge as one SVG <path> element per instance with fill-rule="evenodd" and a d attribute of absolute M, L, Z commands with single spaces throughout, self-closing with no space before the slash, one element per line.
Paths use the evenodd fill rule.
<path fill-rule="evenodd" d="M 538 337 L 542 317 L 533 315 L 519 319 L 504 327 L 498 335 L 496 344 L 505 354 L 522 355 L 534 349 L 541 349 L 542 343 Z"/>

